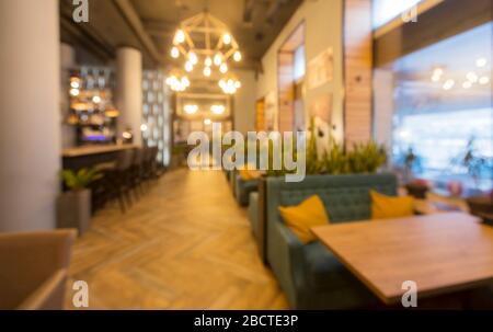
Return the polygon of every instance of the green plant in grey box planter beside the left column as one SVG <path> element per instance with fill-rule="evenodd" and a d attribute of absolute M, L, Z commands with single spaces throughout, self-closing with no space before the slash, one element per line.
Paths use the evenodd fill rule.
<path fill-rule="evenodd" d="M 59 228 L 77 228 L 83 234 L 91 220 L 91 190 L 89 185 L 103 178 L 95 169 L 64 170 L 61 179 L 68 188 L 57 201 Z"/>

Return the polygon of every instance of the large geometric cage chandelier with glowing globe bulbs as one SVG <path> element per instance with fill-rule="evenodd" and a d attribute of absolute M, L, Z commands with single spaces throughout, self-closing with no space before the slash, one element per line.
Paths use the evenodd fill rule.
<path fill-rule="evenodd" d="M 193 72 L 197 68 L 206 78 L 218 73 L 218 83 L 231 82 L 228 78 L 231 61 L 239 62 L 242 59 L 240 47 L 230 33 L 228 26 L 204 11 L 195 16 L 182 21 L 173 37 L 171 57 L 184 60 L 184 70 Z M 225 93 L 230 93 L 241 85 L 234 80 L 234 89 L 229 87 L 227 91 L 221 83 Z M 232 92 L 232 93 L 234 93 Z"/>

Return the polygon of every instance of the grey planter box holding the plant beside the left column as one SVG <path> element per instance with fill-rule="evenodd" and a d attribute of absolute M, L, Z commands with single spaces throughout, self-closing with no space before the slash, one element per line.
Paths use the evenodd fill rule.
<path fill-rule="evenodd" d="M 77 228 L 83 234 L 91 222 L 91 191 L 66 192 L 58 196 L 58 228 Z"/>

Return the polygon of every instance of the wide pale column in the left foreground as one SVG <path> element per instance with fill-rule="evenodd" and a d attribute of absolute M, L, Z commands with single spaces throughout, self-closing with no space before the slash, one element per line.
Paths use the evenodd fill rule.
<path fill-rule="evenodd" d="M 0 1 L 0 232 L 55 227 L 58 15 L 57 0 Z"/>

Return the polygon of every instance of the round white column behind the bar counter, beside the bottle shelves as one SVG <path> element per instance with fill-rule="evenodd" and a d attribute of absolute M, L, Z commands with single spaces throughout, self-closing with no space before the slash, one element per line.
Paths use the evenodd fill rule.
<path fill-rule="evenodd" d="M 134 144 L 140 146 L 142 136 L 142 55 L 131 47 L 121 47 L 116 53 L 116 107 L 119 111 L 118 138 L 130 128 Z"/>

